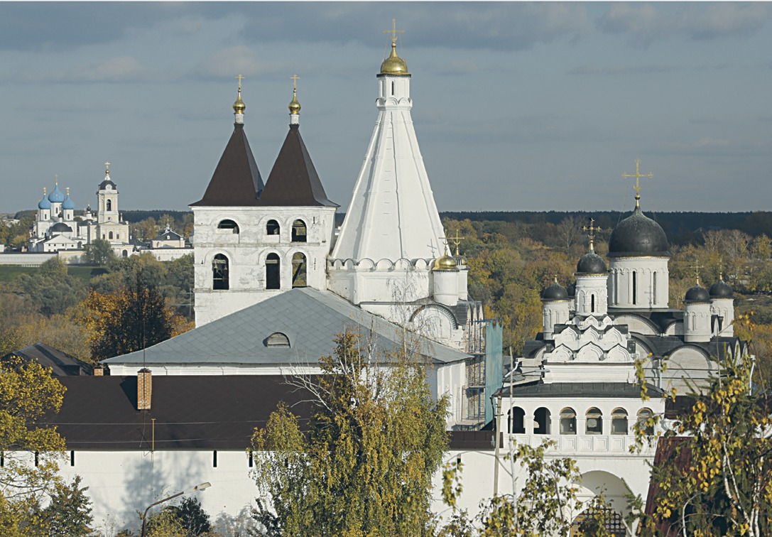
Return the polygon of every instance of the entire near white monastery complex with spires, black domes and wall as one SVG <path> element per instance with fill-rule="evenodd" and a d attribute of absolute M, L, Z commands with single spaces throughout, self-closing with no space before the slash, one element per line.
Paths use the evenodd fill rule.
<path fill-rule="evenodd" d="M 317 372 L 347 328 L 371 338 L 376 352 L 415 335 L 434 365 L 432 393 L 451 400 L 448 460 L 465 466 L 459 508 L 476 512 L 494 488 L 516 494 L 523 483 L 520 470 L 503 463 L 502 483 L 494 483 L 493 439 L 502 432 L 504 453 L 510 440 L 556 440 L 550 457 L 577 459 L 581 494 L 605 490 L 621 520 L 628 491 L 645 499 L 653 459 L 651 449 L 628 451 L 631 423 L 665 411 L 662 401 L 641 402 L 635 359 L 645 360 L 650 393 L 659 393 L 681 386 L 684 375 L 704 379 L 716 357 L 747 351 L 732 334 L 732 291 L 723 282 L 709 291 L 697 284 L 683 310 L 668 308 L 667 238 L 643 214 L 637 192 L 635 210 L 611 234 L 608 266 L 594 253 L 591 226 L 576 283 L 543 291 L 543 331 L 505 376 L 501 326 L 468 296 L 466 259 L 447 246 L 395 36 L 339 233 L 337 204 L 300 135 L 296 88 L 289 132 L 263 182 L 239 77 L 231 138 L 191 204 L 196 328 L 103 361 L 109 376 L 63 378 L 56 423 L 71 450 L 63 470 L 83 476 L 97 522 L 116 516 L 127 525 L 164 486 L 183 490 L 191 479 L 212 482 L 200 498 L 208 512 L 238 513 L 256 495 L 245 454 L 252 430 L 280 399 L 302 403 L 283 376 Z M 486 423 L 496 423 L 495 435 L 479 430 Z"/>

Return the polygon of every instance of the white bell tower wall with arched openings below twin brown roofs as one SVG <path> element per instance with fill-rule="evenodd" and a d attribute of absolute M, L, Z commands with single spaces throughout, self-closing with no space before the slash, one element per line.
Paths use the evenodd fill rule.
<path fill-rule="evenodd" d="M 327 289 L 335 207 L 194 206 L 193 214 L 197 326 L 293 287 Z"/>

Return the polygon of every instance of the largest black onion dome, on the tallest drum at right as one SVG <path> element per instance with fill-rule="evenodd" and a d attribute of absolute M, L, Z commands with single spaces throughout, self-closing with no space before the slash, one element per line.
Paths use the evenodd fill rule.
<path fill-rule="evenodd" d="M 608 239 L 609 257 L 666 256 L 668 237 L 654 220 L 645 216 L 640 207 L 622 220 Z"/>

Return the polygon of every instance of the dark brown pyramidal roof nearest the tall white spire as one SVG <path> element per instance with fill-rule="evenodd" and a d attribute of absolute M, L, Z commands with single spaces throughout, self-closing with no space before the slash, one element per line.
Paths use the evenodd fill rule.
<path fill-rule="evenodd" d="M 273 164 L 259 205 L 337 207 L 337 203 L 330 202 L 324 193 L 317 168 L 313 167 L 298 127 L 289 125 L 289 133 Z"/>

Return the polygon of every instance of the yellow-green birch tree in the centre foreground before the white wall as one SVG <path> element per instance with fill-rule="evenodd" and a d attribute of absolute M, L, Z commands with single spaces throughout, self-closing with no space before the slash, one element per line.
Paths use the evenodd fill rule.
<path fill-rule="evenodd" d="M 408 342 L 381 357 L 350 331 L 335 343 L 322 374 L 302 383 L 315 403 L 307 430 L 280 406 L 252 437 L 256 482 L 270 498 L 255 518 L 271 535 L 428 535 L 448 401 L 432 400 Z"/>

